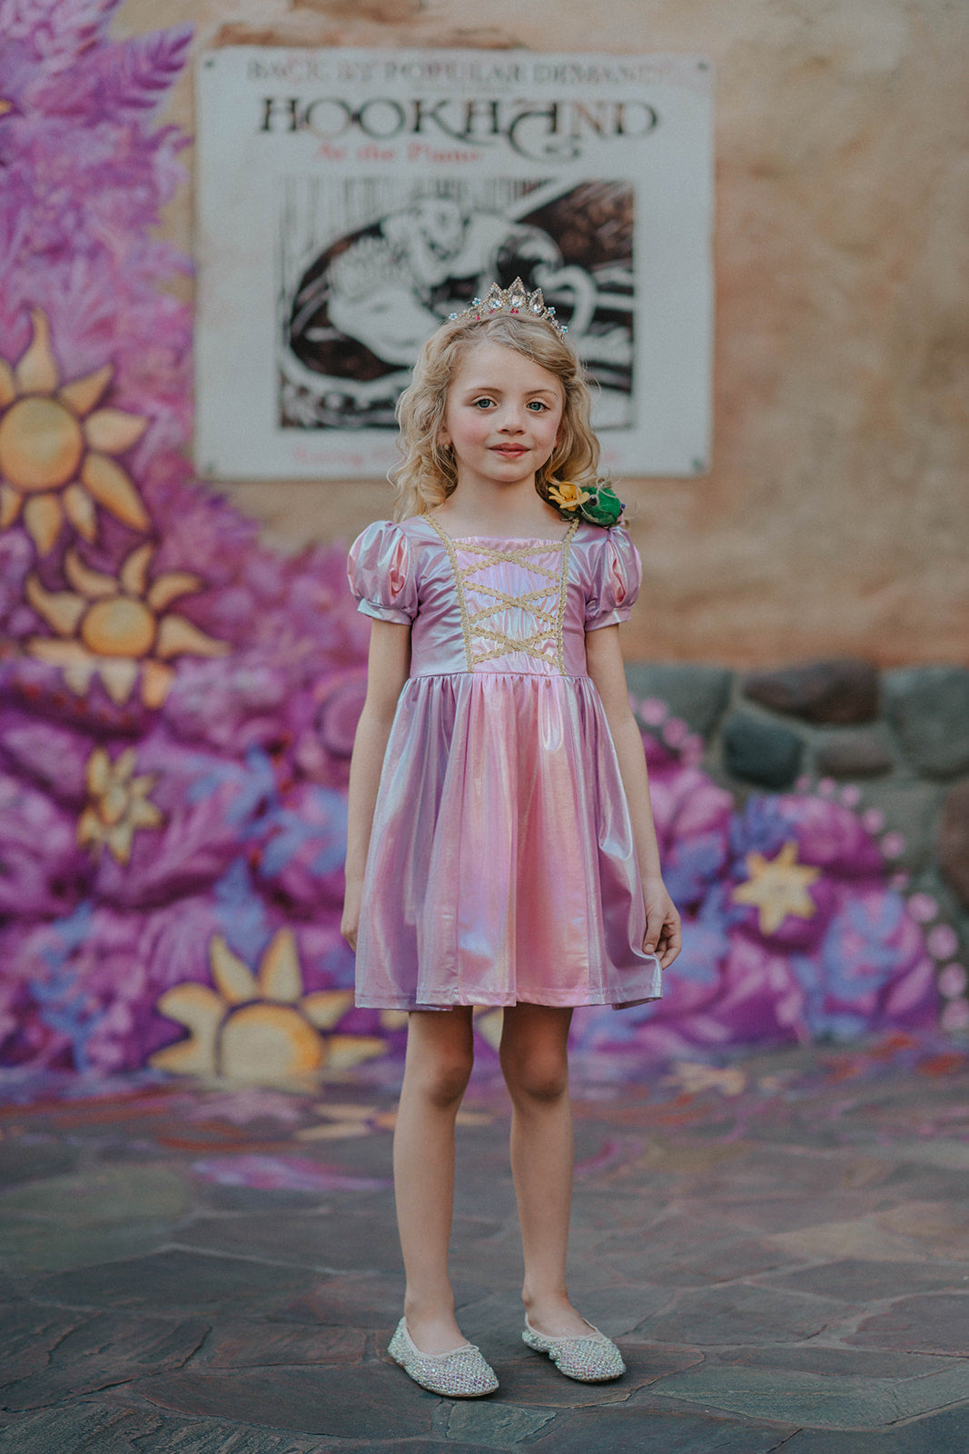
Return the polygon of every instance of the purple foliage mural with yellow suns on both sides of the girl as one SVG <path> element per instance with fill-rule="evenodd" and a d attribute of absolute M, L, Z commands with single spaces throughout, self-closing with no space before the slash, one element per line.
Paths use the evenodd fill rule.
<path fill-rule="evenodd" d="M 0 1061 L 314 1079 L 402 1040 L 353 1009 L 338 933 L 366 622 L 341 550 L 273 554 L 192 477 L 163 288 L 190 263 L 151 236 L 186 185 L 151 111 L 190 33 L 112 42 L 116 4 L 0 0 Z M 577 1045 L 625 1075 L 931 1025 L 923 929 L 853 807 L 738 810 L 638 705 L 686 948 L 660 1005 L 584 1011 Z"/>

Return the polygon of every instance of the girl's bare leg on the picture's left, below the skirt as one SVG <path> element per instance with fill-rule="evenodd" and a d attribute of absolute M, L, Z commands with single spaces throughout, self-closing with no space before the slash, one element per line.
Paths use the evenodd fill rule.
<path fill-rule="evenodd" d="M 404 1314 L 424 1354 L 465 1342 L 455 1320 L 447 1242 L 455 1201 L 455 1117 L 472 1061 L 471 1006 L 411 1013 L 394 1131 L 394 1191 L 407 1272 Z"/>

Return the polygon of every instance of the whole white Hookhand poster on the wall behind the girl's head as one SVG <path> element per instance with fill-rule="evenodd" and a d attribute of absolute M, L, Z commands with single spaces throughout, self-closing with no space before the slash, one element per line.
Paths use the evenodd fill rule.
<path fill-rule="evenodd" d="M 203 57 L 199 468 L 382 474 L 421 343 L 520 276 L 594 381 L 606 465 L 702 473 L 709 99 L 696 57 Z"/>

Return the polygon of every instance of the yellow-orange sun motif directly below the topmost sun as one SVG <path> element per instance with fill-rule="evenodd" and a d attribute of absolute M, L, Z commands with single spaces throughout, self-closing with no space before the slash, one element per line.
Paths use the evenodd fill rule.
<path fill-rule="evenodd" d="M 55 637 L 31 637 L 26 648 L 38 662 L 64 669 L 64 680 L 83 695 L 100 676 L 112 701 L 126 702 L 141 672 L 141 699 L 161 707 L 174 678 L 169 660 L 176 656 L 222 656 L 225 641 L 206 635 L 166 606 L 203 586 L 199 576 L 169 570 L 148 585 L 153 544 L 138 545 L 122 563 L 118 577 L 92 570 L 74 553 L 64 557 L 64 573 L 74 590 L 46 590 L 35 574 L 25 593 Z"/>

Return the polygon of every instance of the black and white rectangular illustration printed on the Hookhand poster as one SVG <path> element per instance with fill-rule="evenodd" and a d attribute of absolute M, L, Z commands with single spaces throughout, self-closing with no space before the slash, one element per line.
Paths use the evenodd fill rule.
<path fill-rule="evenodd" d="M 286 179 L 283 190 L 283 427 L 395 427 L 424 339 L 492 281 L 519 276 L 542 289 L 596 378 L 596 425 L 633 423 L 628 183 Z"/>

